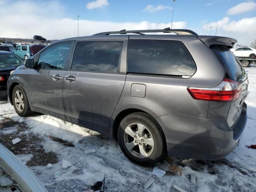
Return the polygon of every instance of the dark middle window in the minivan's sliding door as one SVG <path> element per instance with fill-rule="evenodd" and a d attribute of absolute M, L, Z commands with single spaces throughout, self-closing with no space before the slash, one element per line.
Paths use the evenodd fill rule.
<path fill-rule="evenodd" d="M 71 70 L 118 73 L 123 42 L 78 42 Z"/>

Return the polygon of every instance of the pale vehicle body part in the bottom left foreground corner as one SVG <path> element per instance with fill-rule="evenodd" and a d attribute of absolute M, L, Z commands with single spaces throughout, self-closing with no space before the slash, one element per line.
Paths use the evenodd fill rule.
<path fill-rule="evenodd" d="M 36 176 L 0 144 L 0 192 L 13 191 L 48 192 Z"/>

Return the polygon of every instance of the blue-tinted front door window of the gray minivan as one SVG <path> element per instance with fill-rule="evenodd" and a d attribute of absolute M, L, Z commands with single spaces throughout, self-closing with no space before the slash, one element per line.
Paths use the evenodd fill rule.
<path fill-rule="evenodd" d="M 51 46 L 42 52 L 38 58 L 38 68 L 41 69 L 64 69 L 68 61 L 71 42 Z"/>

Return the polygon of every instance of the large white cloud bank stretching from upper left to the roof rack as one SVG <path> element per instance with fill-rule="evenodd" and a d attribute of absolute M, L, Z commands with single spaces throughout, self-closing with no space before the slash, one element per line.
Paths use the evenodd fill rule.
<path fill-rule="evenodd" d="M 13 12 L 13 10 L 19 11 Z M 0 23 L 1 26 L 4 26 L 4 30 L 0 30 L 0 37 L 16 38 L 16 34 L 18 34 L 19 38 L 40 35 L 46 39 L 63 39 L 77 36 L 77 19 L 64 16 L 65 8 L 58 1 L 42 3 L 39 0 L 20 0 L 0 6 L 0 12 Z M 148 21 L 111 22 L 81 19 L 79 20 L 79 36 L 122 29 L 164 29 L 168 26 L 170 27 L 171 24 Z M 186 22 L 173 22 L 172 26 L 173 28 L 186 28 Z"/>

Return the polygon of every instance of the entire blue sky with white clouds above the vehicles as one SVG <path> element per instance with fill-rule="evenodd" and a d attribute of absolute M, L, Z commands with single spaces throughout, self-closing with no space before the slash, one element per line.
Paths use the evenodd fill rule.
<path fill-rule="evenodd" d="M 170 27 L 171 0 L 0 0 L 0 37 L 62 39 L 110 30 Z M 248 0 L 176 0 L 173 28 L 198 34 L 256 38 L 256 2 Z"/>

